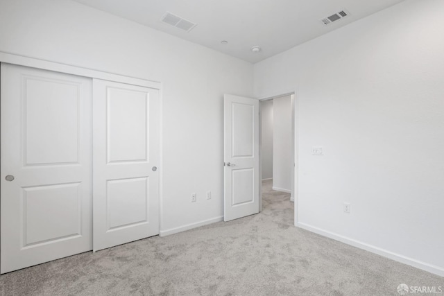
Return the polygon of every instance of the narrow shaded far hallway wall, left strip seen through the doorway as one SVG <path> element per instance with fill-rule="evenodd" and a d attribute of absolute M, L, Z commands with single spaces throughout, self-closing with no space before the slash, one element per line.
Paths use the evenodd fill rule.
<path fill-rule="evenodd" d="M 273 100 L 261 101 L 262 180 L 273 177 Z"/>

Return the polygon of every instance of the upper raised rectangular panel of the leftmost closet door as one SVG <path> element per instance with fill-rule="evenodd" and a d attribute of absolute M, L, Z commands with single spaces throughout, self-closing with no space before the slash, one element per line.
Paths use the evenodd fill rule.
<path fill-rule="evenodd" d="M 25 165 L 76 164 L 80 84 L 24 76 Z"/>

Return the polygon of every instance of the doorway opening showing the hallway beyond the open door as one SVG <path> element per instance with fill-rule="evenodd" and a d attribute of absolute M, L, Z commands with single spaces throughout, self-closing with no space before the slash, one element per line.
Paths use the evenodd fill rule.
<path fill-rule="evenodd" d="M 277 204 L 296 209 L 294 106 L 294 93 L 259 102 L 261 211 Z"/>

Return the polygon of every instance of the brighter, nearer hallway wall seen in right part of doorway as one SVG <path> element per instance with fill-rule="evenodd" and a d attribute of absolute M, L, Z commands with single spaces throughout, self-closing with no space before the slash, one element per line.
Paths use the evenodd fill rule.
<path fill-rule="evenodd" d="M 273 189 L 291 192 L 291 95 L 273 99 Z"/>

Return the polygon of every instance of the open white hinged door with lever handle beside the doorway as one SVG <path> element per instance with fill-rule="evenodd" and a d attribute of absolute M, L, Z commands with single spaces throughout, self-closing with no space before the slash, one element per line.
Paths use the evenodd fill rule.
<path fill-rule="evenodd" d="M 259 101 L 225 94 L 224 220 L 259 212 Z"/>

